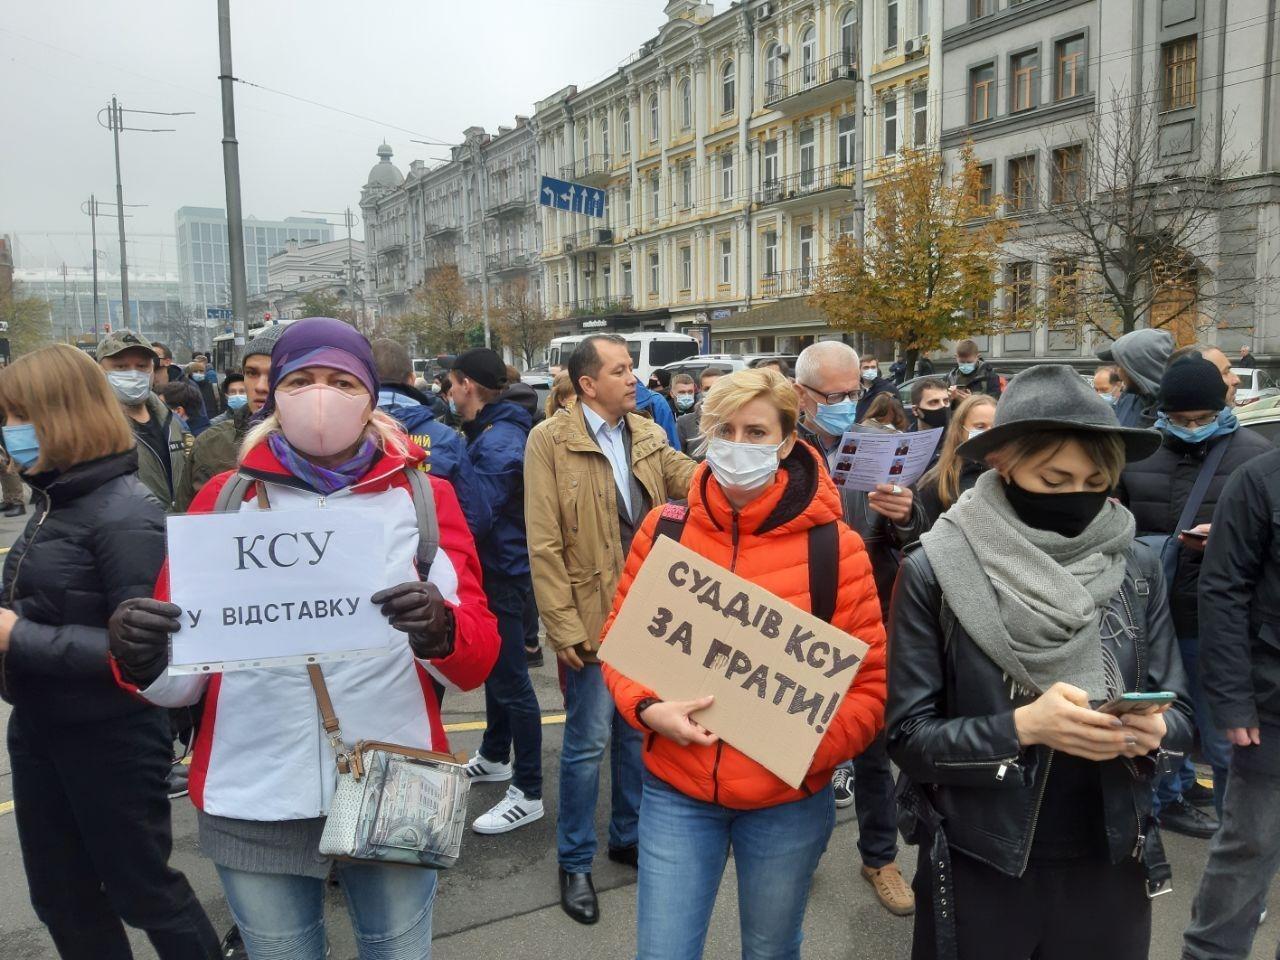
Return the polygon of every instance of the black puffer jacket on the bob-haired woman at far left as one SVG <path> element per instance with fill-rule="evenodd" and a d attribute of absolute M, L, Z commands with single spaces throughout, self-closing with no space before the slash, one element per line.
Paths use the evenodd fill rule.
<path fill-rule="evenodd" d="M 137 476 L 136 451 L 23 477 L 37 509 L 4 564 L 4 605 L 18 614 L 0 692 L 50 723 L 156 709 L 111 677 L 106 621 L 150 596 L 165 557 L 164 507 Z"/>

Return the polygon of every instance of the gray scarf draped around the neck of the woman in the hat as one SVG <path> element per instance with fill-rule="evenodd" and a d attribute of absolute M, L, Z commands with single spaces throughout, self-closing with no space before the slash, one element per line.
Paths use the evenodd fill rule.
<path fill-rule="evenodd" d="M 956 620 L 1011 685 L 1041 694 L 1064 681 L 1101 700 L 1111 672 L 1101 622 L 1133 534 L 1133 515 L 1112 500 L 1079 536 L 1029 527 L 988 470 L 920 544 Z"/>

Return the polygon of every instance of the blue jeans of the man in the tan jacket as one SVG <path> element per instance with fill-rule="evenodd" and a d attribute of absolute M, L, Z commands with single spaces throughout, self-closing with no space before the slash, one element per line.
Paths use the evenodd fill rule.
<path fill-rule="evenodd" d="M 564 745 L 561 749 L 559 817 L 556 847 L 570 873 L 590 873 L 595 859 L 595 804 L 600 762 L 609 751 L 613 781 L 609 846 L 635 846 L 640 824 L 640 731 L 618 716 L 599 663 L 564 671 Z"/>

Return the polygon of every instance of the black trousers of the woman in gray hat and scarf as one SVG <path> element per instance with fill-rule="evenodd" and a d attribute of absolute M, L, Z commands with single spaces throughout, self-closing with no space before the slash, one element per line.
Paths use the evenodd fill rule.
<path fill-rule="evenodd" d="M 1147 960 L 1151 901 L 1137 860 L 1030 864 L 1015 878 L 952 850 L 951 869 L 955 960 Z M 911 960 L 947 960 L 934 940 L 932 873 L 922 851 Z"/>

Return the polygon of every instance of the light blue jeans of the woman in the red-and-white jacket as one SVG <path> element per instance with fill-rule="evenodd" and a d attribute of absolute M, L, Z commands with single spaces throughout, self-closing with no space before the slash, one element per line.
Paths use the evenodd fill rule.
<path fill-rule="evenodd" d="M 430 960 L 435 870 L 335 861 L 360 960 Z M 218 868 L 251 960 L 324 960 L 323 879 Z"/>

